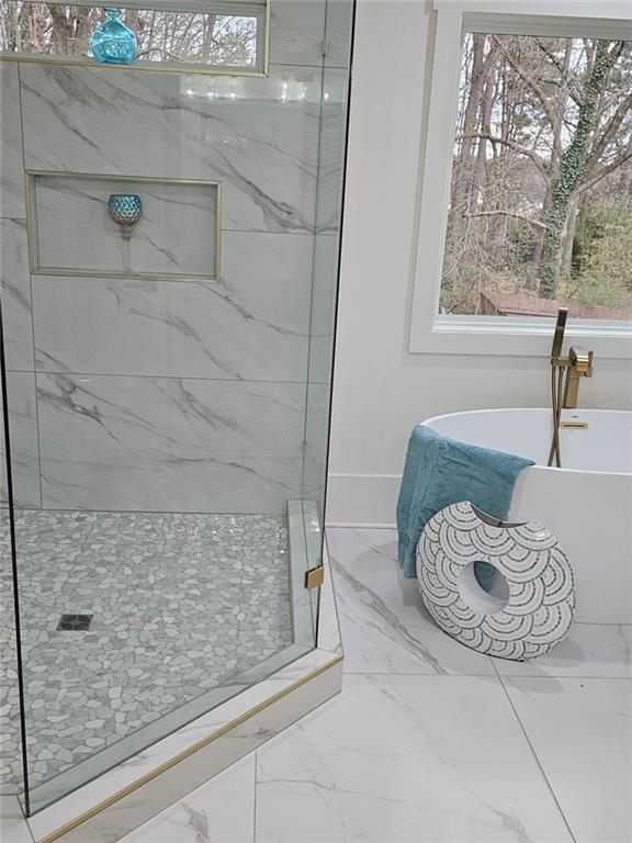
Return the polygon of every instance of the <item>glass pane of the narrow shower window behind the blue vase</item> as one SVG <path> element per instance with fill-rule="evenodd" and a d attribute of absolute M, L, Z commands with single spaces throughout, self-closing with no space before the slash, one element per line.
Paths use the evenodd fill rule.
<path fill-rule="evenodd" d="M 139 60 L 213 67 L 257 66 L 256 14 L 125 9 L 123 22 L 138 40 Z M 101 7 L 0 0 L 0 49 L 45 56 L 88 56 Z"/>

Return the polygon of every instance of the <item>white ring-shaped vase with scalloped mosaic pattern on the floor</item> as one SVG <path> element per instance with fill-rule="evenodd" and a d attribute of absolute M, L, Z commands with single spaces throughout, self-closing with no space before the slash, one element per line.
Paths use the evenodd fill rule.
<path fill-rule="evenodd" d="M 475 562 L 500 573 L 487 594 Z M 573 569 L 539 521 L 506 524 L 470 502 L 447 506 L 417 544 L 424 603 L 441 629 L 488 655 L 524 661 L 558 643 L 573 621 Z"/>

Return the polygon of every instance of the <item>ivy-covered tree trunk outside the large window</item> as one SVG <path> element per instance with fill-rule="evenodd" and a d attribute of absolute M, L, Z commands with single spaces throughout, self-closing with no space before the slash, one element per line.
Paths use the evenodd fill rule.
<path fill-rule="evenodd" d="M 599 98 L 608 83 L 608 77 L 621 49 L 609 52 L 611 42 L 599 41 L 595 49 L 595 60 L 588 72 L 583 90 L 577 126 L 568 147 L 562 154 L 560 173 L 553 181 L 551 207 L 543 221 L 546 225 L 540 262 L 540 295 L 542 299 L 555 299 L 560 284 L 562 235 L 567 224 L 569 203 L 580 184 L 586 169 L 590 136 L 595 130 Z"/>

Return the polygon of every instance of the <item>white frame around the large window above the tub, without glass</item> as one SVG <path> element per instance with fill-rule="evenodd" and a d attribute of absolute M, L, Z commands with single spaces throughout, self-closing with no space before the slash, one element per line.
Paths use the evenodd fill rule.
<path fill-rule="evenodd" d="M 548 317 L 439 314 L 456 132 L 463 35 L 590 36 L 632 40 L 632 3 L 606 0 L 435 0 L 437 30 L 417 235 L 409 351 L 546 356 Z M 524 11 L 528 14 L 524 14 Z M 596 357 L 632 358 L 632 322 L 569 319 L 566 336 Z"/>

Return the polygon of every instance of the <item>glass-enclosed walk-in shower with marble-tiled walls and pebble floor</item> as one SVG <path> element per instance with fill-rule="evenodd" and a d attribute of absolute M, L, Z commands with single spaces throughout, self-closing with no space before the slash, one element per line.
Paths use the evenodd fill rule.
<path fill-rule="evenodd" d="M 109 66 L 103 10 L 0 0 L 0 768 L 31 814 L 316 641 L 353 4 L 139 5 Z"/>

